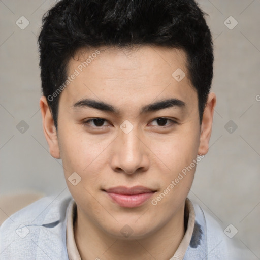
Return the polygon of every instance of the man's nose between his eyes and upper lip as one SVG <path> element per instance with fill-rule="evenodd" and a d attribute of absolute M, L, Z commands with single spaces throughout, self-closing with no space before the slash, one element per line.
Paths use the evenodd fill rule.
<path fill-rule="evenodd" d="M 115 172 L 134 174 L 149 168 L 149 149 L 144 136 L 134 127 L 129 133 L 119 131 L 111 152 L 111 167 Z"/>

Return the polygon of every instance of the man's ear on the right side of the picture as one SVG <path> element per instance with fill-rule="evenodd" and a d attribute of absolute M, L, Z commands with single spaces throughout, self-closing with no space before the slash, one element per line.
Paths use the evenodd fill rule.
<path fill-rule="evenodd" d="M 209 140 L 212 131 L 212 122 L 213 122 L 213 114 L 214 114 L 215 106 L 216 106 L 216 94 L 211 92 L 208 95 L 207 104 L 203 113 L 198 155 L 206 154 L 209 150 Z"/>

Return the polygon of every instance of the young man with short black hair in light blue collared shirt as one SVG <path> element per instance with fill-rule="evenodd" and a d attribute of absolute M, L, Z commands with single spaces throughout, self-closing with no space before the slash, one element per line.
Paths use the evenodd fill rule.
<path fill-rule="evenodd" d="M 187 198 L 216 104 L 203 15 L 192 0 L 61 0 L 48 11 L 40 108 L 72 196 L 7 219 L 1 259 L 238 259 Z"/>

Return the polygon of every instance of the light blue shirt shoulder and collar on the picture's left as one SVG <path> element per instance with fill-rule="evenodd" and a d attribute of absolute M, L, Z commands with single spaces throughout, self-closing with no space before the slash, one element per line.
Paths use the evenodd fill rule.
<path fill-rule="evenodd" d="M 72 200 L 71 196 L 44 197 L 8 217 L 0 226 L 0 258 L 60 257 L 64 253 L 61 242 L 66 246 L 67 211 Z"/>

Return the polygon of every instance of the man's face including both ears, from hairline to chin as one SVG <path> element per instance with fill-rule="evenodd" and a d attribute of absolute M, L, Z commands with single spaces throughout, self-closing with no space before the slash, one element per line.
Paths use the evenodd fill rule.
<path fill-rule="evenodd" d="M 207 152 L 214 101 L 201 126 L 181 50 L 99 51 L 71 59 L 68 76 L 76 76 L 60 93 L 57 139 L 47 106 L 44 132 L 52 156 L 62 159 L 79 217 L 120 238 L 128 225 L 132 237 L 141 238 L 170 222 L 184 205 L 194 161 Z M 178 68 L 183 72 L 176 75 Z M 109 190 L 118 186 L 143 188 L 132 195 L 124 188 Z"/>

